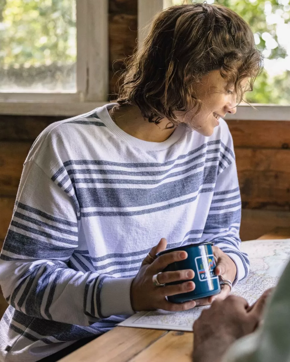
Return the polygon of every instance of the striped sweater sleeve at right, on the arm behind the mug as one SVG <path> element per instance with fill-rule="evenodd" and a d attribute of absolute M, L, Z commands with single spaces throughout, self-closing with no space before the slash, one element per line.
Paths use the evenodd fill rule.
<path fill-rule="evenodd" d="M 232 258 L 237 267 L 235 285 L 247 277 L 249 259 L 240 251 L 241 197 L 230 134 L 228 144 L 221 146 L 218 177 L 201 241 L 212 241 Z"/>

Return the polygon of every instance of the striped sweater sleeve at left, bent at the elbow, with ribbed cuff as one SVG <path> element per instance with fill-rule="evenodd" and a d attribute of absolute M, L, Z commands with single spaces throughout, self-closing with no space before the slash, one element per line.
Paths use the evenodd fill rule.
<path fill-rule="evenodd" d="M 70 261 L 79 245 L 80 211 L 70 178 L 63 180 L 26 162 L 1 252 L 0 283 L 7 302 L 28 316 L 90 325 L 102 317 L 101 286 L 111 277 L 77 271 Z M 132 313 L 131 281 L 118 280 L 123 294 L 117 306 L 113 302 L 116 314 Z M 103 299 L 109 304 L 116 286 L 106 284 Z"/>

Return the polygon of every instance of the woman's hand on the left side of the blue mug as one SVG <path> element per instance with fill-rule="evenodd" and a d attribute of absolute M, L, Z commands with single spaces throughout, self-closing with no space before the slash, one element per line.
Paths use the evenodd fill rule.
<path fill-rule="evenodd" d="M 165 250 L 167 245 L 166 239 L 162 238 L 158 245 L 151 249 L 150 255 L 143 260 L 140 270 L 133 279 L 130 291 L 131 305 L 135 312 L 163 309 L 166 311 L 184 311 L 195 307 L 195 301 L 185 303 L 170 303 L 166 296 L 190 292 L 194 290 L 195 284 L 192 281 L 176 285 L 166 285 L 158 287 L 153 284 L 152 277 L 154 274 L 162 272 L 167 265 L 184 260 L 187 258 L 185 251 L 175 251 L 159 256 L 156 260 L 156 254 Z M 165 271 L 158 275 L 160 284 L 170 283 L 181 280 L 188 280 L 194 277 L 194 271 L 191 269 L 178 271 Z"/>

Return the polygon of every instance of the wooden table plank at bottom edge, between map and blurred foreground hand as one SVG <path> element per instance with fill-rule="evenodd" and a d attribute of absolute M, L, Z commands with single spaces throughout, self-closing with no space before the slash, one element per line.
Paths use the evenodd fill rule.
<path fill-rule="evenodd" d="M 192 332 L 169 331 L 130 362 L 192 362 L 192 349 Z"/>

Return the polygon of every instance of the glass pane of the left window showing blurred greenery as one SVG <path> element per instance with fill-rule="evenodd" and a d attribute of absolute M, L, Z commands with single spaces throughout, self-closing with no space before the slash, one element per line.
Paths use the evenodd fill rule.
<path fill-rule="evenodd" d="M 1 92 L 76 92 L 75 0 L 5 1 L 0 43 Z"/>

